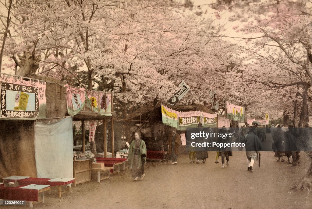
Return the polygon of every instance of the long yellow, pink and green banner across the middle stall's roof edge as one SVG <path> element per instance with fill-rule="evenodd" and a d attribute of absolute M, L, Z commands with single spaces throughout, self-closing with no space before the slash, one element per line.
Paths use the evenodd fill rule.
<path fill-rule="evenodd" d="M 178 112 L 163 105 L 161 106 L 161 112 L 163 123 L 180 131 L 185 131 L 187 128 L 195 128 L 198 126 L 198 123 L 202 123 L 203 127 L 217 126 L 217 114 L 201 111 Z"/>

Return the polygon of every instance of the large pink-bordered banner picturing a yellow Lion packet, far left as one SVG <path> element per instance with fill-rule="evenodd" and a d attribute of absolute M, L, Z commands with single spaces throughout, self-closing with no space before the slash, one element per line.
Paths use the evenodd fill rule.
<path fill-rule="evenodd" d="M 0 76 L 0 119 L 36 120 L 46 116 L 46 83 Z"/>

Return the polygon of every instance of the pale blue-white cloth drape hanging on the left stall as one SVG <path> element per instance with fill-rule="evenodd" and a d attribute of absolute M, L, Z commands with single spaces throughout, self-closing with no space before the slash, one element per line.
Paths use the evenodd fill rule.
<path fill-rule="evenodd" d="M 73 177 L 73 120 L 35 124 L 38 178 Z"/>

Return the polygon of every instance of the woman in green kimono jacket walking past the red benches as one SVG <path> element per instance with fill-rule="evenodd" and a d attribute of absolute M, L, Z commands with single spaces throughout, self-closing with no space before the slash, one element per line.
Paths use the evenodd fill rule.
<path fill-rule="evenodd" d="M 140 132 L 134 132 L 134 140 L 131 142 L 128 154 L 129 169 L 134 181 L 143 180 L 144 164 L 146 162 L 146 145 L 141 139 Z"/>

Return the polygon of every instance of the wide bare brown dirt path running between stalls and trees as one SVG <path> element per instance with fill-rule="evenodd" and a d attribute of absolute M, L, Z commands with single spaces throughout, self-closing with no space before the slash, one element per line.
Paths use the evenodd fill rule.
<path fill-rule="evenodd" d="M 311 208 L 311 192 L 289 190 L 310 166 L 304 152 L 295 167 L 276 162 L 273 152 L 261 152 L 261 167 L 256 161 L 253 173 L 247 171 L 243 151 L 233 152 L 224 169 L 214 163 L 215 157 L 216 152 L 210 152 L 206 164 L 190 164 L 186 154 L 179 156 L 177 166 L 147 162 L 143 181 L 133 182 L 125 170 L 101 183 L 73 187 L 62 198 L 53 188 L 45 203 L 34 208 Z"/>

